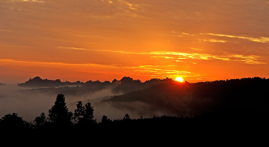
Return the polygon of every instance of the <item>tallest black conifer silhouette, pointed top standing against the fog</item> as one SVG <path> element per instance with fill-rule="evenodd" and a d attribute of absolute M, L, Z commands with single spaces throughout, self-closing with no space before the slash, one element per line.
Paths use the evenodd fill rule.
<path fill-rule="evenodd" d="M 71 125 L 72 112 L 68 111 L 65 102 L 65 96 L 58 94 L 54 102 L 54 105 L 49 109 L 48 119 L 54 125 Z"/>

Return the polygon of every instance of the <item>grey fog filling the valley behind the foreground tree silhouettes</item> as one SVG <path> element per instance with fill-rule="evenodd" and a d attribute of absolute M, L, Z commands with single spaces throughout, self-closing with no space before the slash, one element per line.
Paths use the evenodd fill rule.
<path fill-rule="evenodd" d="M 22 117 L 23 120 L 30 122 L 42 112 L 46 116 L 48 115 L 48 110 L 54 105 L 57 94 L 45 93 L 44 91 L 20 91 L 23 89 L 31 88 L 15 84 L 0 85 L 0 117 L 9 113 L 18 113 L 18 116 Z M 80 96 L 65 95 L 65 99 L 68 110 L 72 112 L 76 109 L 77 101 L 82 101 L 83 105 L 88 101 L 91 102 L 94 106 L 94 119 L 97 119 L 97 122 L 101 121 L 103 115 L 108 116 L 111 120 L 123 119 L 126 113 L 129 113 L 132 119 L 138 119 L 140 116 L 146 118 L 165 114 L 174 115 L 161 108 L 156 110 L 156 107 L 153 108 L 143 102 L 100 102 L 109 98 L 106 96 L 119 94 L 122 93 L 113 93 L 111 89 L 103 89 Z"/>

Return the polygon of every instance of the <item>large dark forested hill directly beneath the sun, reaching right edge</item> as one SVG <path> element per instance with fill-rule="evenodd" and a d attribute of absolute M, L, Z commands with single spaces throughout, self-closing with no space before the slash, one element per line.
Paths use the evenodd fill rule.
<path fill-rule="evenodd" d="M 213 82 L 179 83 L 175 81 L 114 96 L 109 100 L 117 107 L 123 102 L 144 102 L 153 109 L 164 109 L 179 116 L 206 112 L 268 112 L 269 79 L 242 78 Z M 128 106 L 126 106 L 128 108 Z"/>

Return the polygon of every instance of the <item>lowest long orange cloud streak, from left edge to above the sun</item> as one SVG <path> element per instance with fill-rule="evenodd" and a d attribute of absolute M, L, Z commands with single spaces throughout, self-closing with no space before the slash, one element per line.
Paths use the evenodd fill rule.
<path fill-rule="evenodd" d="M 140 66 L 122 66 L 122 65 L 104 65 L 104 64 L 93 64 L 93 63 L 80 63 L 80 64 L 71 64 L 71 63 L 61 63 L 61 62 L 34 62 L 34 61 L 19 61 L 14 59 L 0 59 L 1 62 L 4 62 L 5 65 L 16 65 L 23 69 L 23 67 L 49 67 L 49 68 L 58 68 L 66 67 L 73 68 L 79 72 L 101 72 L 99 70 L 94 71 L 94 68 L 108 68 L 108 71 L 113 71 L 110 73 L 126 73 L 129 75 L 137 74 L 143 76 L 150 76 L 151 78 L 165 78 L 165 77 L 176 77 L 178 75 L 186 76 L 189 74 L 189 71 L 179 71 L 175 70 L 176 68 L 164 69 L 167 67 L 176 67 L 176 65 L 140 65 Z M 8 64 L 7 64 L 8 63 Z M 90 70 L 91 69 L 91 70 Z M 103 72 L 106 73 L 106 72 Z"/>

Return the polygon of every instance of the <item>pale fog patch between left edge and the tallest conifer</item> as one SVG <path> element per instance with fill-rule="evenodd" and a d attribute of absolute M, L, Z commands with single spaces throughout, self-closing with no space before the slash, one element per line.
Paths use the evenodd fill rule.
<path fill-rule="evenodd" d="M 54 104 L 56 95 L 52 97 L 45 93 L 22 93 L 20 89 L 27 88 L 15 84 L 0 86 L 0 117 L 9 113 L 18 113 L 23 120 L 33 121 L 42 112 L 48 112 Z"/>

